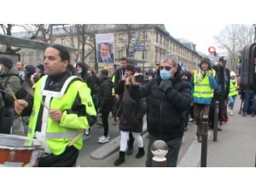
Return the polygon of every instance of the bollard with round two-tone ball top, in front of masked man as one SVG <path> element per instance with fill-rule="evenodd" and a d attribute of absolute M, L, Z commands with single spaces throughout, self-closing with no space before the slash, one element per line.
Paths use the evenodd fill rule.
<path fill-rule="evenodd" d="M 151 145 L 151 152 L 154 154 L 152 158 L 153 167 L 166 167 L 166 154 L 168 153 L 168 146 L 162 140 L 156 140 Z"/>

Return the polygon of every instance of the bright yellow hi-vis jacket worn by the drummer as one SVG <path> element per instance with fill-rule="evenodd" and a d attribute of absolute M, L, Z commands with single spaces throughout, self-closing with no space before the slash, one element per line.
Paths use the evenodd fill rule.
<path fill-rule="evenodd" d="M 44 90 L 47 77 L 45 75 L 34 84 L 34 101 L 27 137 L 36 137 L 43 142 L 44 152 L 59 155 L 65 151 L 67 144 L 71 142 L 73 137 L 90 127 L 86 117 L 78 116 L 76 113 L 67 113 L 66 111 L 73 107 L 76 96 L 79 94 L 82 104 L 86 107 L 86 114 L 96 116 L 96 109 L 90 96 L 90 88 L 86 83 L 77 80 L 76 76 L 68 78 L 60 92 Z M 62 111 L 61 122 L 57 123 L 50 119 L 48 109 L 44 108 L 41 132 L 35 132 L 43 96 L 45 96 L 46 106 Z M 73 144 L 73 147 L 80 150 L 83 147 L 83 138 L 80 137 Z"/>

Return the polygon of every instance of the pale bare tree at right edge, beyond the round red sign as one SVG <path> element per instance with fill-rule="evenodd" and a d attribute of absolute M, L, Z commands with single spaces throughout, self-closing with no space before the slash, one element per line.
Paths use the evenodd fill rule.
<path fill-rule="evenodd" d="M 214 37 L 218 43 L 218 49 L 230 58 L 230 70 L 236 71 L 238 56 L 246 44 L 253 43 L 253 25 L 231 24 L 225 26 Z"/>

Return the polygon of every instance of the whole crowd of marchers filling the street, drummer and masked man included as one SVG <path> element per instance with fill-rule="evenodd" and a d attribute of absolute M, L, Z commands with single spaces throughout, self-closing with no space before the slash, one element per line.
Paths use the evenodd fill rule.
<path fill-rule="evenodd" d="M 90 138 L 97 119 L 103 126 L 98 143 L 111 140 L 108 120 L 112 113 L 120 133 L 119 158 L 114 166 L 125 163 L 125 154 L 133 153 L 134 142 L 136 158 L 147 154 L 145 166 L 152 166 L 150 147 L 156 140 L 168 146 L 166 165 L 177 166 L 188 122 L 195 119 L 195 134 L 201 143 L 202 116 L 209 117 L 213 129 L 216 101 L 218 131 L 229 114 L 235 114 L 238 94 L 243 103 L 242 116 L 255 115 L 256 93 L 239 90 L 237 75 L 230 72 L 226 62 L 221 56 L 218 65 L 212 66 L 209 59 L 203 58 L 198 70 L 190 73 L 183 71 L 175 56 L 164 55 L 156 70 L 142 73 L 140 67 L 122 57 L 120 67 L 108 64 L 96 73 L 84 61 L 73 66 L 68 50 L 59 44 L 49 45 L 44 50 L 44 64 L 37 66 L 21 61 L 14 66 L 9 58 L 0 57 L 0 133 L 42 142 L 44 155 L 39 157 L 38 166 L 76 166 L 84 137 Z M 147 83 L 137 82 L 141 75 L 148 77 Z M 33 95 L 22 89 L 24 86 L 29 86 Z M 147 148 L 142 137 L 145 115 Z"/>

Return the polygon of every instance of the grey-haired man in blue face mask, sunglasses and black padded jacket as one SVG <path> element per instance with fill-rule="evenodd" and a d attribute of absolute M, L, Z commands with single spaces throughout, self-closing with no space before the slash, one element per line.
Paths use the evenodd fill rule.
<path fill-rule="evenodd" d="M 152 166 L 153 154 L 150 150 L 155 140 L 163 140 L 168 145 L 167 166 L 177 166 L 177 157 L 183 138 L 183 112 L 188 110 L 192 101 L 191 86 L 182 79 L 182 69 L 177 58 L 165 55 L 155 79 L 139 86 L 135 73 L 132 78 L 130 95 L 133 99 L 147 97 L 148 156 L 146 166 Z"/>

